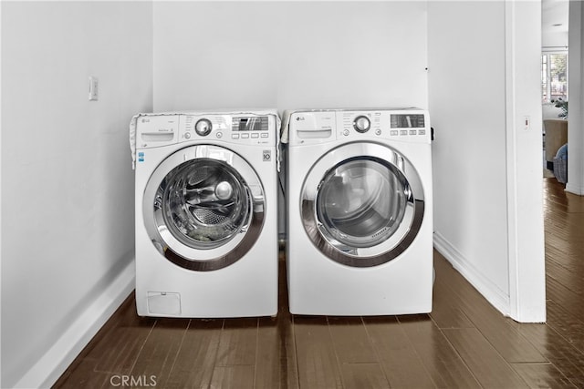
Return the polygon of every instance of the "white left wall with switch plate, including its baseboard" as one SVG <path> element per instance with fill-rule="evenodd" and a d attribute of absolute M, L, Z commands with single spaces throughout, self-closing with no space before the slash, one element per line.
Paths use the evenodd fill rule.
<path fill-rule="evenodd" d="M 151 12 L 2 2 L 2 387 L 53 384 L 133 289 L 128 124 L 152 108 Z"/>

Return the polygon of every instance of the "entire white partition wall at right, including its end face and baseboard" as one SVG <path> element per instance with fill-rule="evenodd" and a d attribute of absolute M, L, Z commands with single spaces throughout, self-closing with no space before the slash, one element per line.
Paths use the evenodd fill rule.
<path fill-rule="evenodd" d="M 519 3 L 428 5 L 434 244 L 501 312 L 541 322 L 541 11 Z"/>

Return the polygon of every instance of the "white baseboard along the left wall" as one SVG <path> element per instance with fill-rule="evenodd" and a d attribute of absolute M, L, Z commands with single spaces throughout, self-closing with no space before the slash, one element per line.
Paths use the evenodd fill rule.
<path fill-rule="evenodd" d="M 15 387 L 51 387 L 63 374 L 91 338 L 128 298 L 135 287 L 135 261 L 130 261 L 118 276 L 89 304 L 78 319 L 57 339 Z"/>

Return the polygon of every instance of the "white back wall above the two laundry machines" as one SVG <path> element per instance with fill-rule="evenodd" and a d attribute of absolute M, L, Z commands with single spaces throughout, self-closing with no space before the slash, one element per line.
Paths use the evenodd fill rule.
<path fill-rule="evenodd" d="M 157 2 L 154 108 L 427 107 L 423 2 Z"/>

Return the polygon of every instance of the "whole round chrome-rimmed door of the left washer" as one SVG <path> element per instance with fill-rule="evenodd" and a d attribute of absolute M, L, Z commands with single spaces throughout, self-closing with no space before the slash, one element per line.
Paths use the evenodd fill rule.
<path fill-rule="evenodd" d="M 241 259 L 264 222 L 264 190 L 235 152 L 211 145 L 176 151 L 144 191 L 144 224 L 154 246 L 189 270 L 213 271 Z"/>

